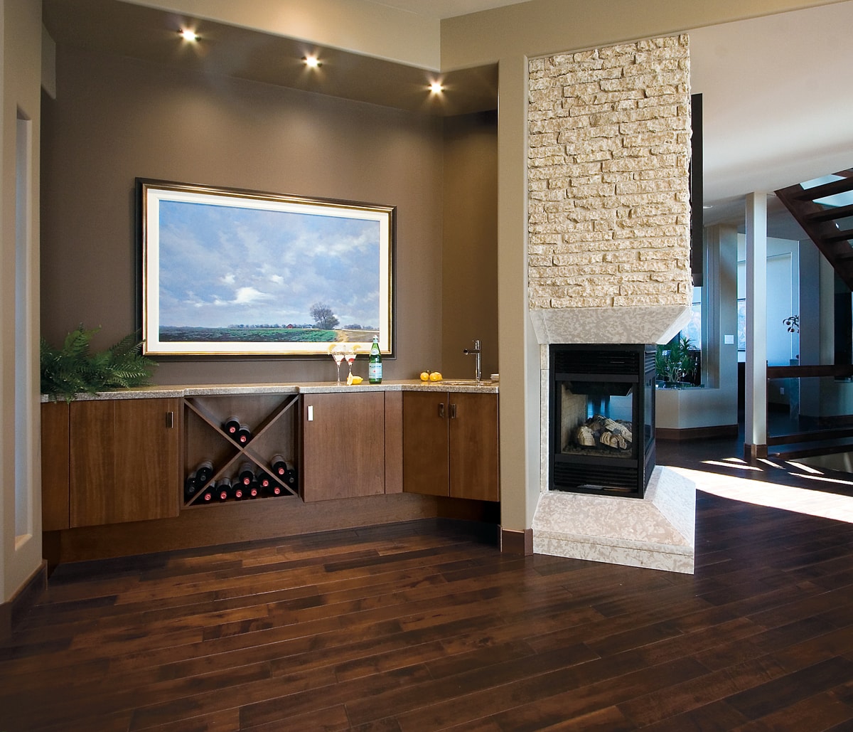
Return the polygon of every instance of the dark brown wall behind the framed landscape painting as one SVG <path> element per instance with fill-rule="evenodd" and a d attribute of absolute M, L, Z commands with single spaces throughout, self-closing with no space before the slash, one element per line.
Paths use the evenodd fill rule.
<path fill-rule="evenodd" d="M 441 119 L 68 48 L 57 49 L 57 90 L 56 100 L 44 97 L 43 123 L 42 333 L 49 341 L 84 322 L 102 326 L 100 348 L 134 328 L 134 180 L 149 177 L 397 206 L 397 358 L 386 362 L 386 378 L 443 368 L 429 366 L 442 344 Z M 490 146 L 479 134 L 473 150 L 492 161 L 474 166 L 476 185 L 496 190 L 482 175 L 496 157 L 494 120 L 486 127 Z M 453 138 L 462 145 L 458 131 Z M 470 154 L 461 155 L 471 166 Z M 473 200 L 489 205 L 488 195 Z M 491 262 L 493 233 L 482 241 Z M 473 265 L 482 270 L 480 259 Z M 478 277 L 490 278 L 476 286 L 485 294 L 475 288 L 467 296 L 492 298 L 493 312 L 494 275 Z M 444 317 L 455 319 L 456 310 Z M 496 354 L 496 330 L 480 330 L 465 337 L 488 339 Z M 332 379 L 326 357 L 160 358 L 154 377 L 160 384 Z"/>

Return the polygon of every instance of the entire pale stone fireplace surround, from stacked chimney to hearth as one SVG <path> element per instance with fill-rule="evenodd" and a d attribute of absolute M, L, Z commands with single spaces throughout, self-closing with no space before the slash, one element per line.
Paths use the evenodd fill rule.
<path fill-rule="evenodd" d="M 686 35 L 529 62 L 528 299 L 540 344 L 533 551 L 693 572 L 695 486 L 654 469 L 645 497 L 548 491 L 548 346 L 664 343 L 688 321 Z"/>

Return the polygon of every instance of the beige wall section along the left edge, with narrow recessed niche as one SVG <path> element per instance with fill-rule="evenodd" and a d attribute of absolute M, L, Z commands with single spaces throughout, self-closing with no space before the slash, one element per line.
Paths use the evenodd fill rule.
<path fill-rule="evenodd" d="M 4 0 L 0 9 L 3 139 L 0 177 L 0 602 L 9 601 L 42 560 L 38 421 L 38 138 L 41 3 Z M 28 138 L 16 155 L 18 118 Z M 29 185 L 16 195 L 16 157 Z M 29 206 L 16 211 L 16 201 Z M 22 237 L 20 247 L 16 238 Z M 16 252 L 17 249 L 17 252 Z M 22 255 L 23 261 L 19 259 Z M 16 262 L 16 259 L 19 261 Z M 23 276 L 15 282 L 15 270 Z M 20 490 L 16 495 L 16 484 Z M 17 514 L 17 520 L 16 520 Z M 3 613 L 0 613 L 3 619 Z M 2 634 L 3 628 L 0 628 Z"/>

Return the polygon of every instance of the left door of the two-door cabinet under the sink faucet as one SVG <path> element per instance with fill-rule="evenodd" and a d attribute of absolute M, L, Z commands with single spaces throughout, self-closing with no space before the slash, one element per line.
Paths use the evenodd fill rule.
<path fill-rule="evenodd" d="M 450 495 L 448 395 L 403 392 L 403 491 Z"/>

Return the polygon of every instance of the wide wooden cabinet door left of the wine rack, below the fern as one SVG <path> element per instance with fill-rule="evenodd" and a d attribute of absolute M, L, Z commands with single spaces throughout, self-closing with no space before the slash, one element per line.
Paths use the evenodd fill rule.
<path fill-rule="evenodd" d="M 177 516 L 178 399 L 74 402 L 71 526 Z"/>

